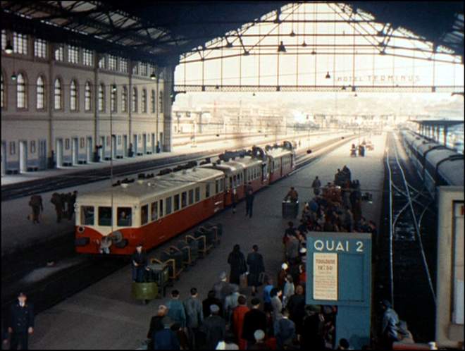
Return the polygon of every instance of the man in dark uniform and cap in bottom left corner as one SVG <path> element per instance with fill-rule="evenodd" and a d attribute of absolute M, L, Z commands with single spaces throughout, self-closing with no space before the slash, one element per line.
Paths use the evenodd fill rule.
<path fill-rule="evenodd" d="M 11 334 L 11 350 L 18 350 L 18 345 L 21 350 L 27 350 L 27 337 L 34 333 L 34 310 L 26 300 L 25 293 L 19 293 L 18 302 L 10 309 L 8 333 Z"/>

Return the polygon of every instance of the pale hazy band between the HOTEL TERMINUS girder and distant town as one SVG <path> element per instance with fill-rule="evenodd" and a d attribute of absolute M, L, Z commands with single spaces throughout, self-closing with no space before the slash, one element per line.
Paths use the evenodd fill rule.
<path fill-rule="evenodd" d="M 307 92 L 189 92 L 176 96 L 173 109 L 199 109 L 231 103 L 295 111 L 299 114 L 403 115 L 463 119 L 464 97 L 450 93 L 307 93 Z"/>

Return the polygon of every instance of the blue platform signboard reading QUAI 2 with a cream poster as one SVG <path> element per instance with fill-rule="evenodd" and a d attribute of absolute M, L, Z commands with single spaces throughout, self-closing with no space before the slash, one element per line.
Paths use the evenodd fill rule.
<path fill-rule="evenodd" d="M 310 232 L 306 304 L 337 306 L 335 342 L 370 343 L 371 233 Z"/>

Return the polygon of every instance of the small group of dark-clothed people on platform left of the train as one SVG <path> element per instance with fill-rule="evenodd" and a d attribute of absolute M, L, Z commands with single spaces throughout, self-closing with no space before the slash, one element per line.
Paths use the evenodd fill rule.
<path fill-rule="evenodd" d="M 51 195 L 50 202 L 54 204 L 56 211 L 56 223 L 60 223 L 62 218 L 68 218 L 68 221 L 73 219 L 74 204 L 76 202 L 77 191 L 61 193 L 54 192 Z M 32 214 L 27 216 L 27 219 L 32 221 L 33 224 L 40 223 L 42 218 L 41 214 L 44 212 L 44 204 L 42 203 L 42 196 L 32 195 L 29 200 L 29 206 L 32 209 Z"/>

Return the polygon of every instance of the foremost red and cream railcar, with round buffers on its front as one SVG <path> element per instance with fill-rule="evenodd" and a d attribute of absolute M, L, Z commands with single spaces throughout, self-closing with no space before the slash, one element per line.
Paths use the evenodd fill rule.
<path fill-rule="evenodd" d="M 132 254 L 173 238 L 223 209 L 224 173 L 194 167 L 80 194 L 76 251 Z"/>

